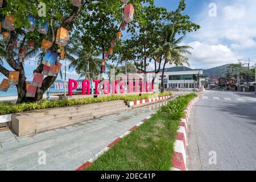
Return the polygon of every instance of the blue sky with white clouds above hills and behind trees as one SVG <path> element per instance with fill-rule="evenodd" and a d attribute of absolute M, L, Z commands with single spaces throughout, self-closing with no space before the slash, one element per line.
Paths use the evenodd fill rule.
<path fill-rule="evenodd" d="M 256 1 L 255 0 L 186 0 L 184 14 L 201 26 L 200 30 L 187 34 L 183 45 L 193 47 L 189 58 L 190 68 L 207 69 L 229 63 L 238 63 L 238 59 L 256 60 Z M 179 0 L 155 0 L 156 6 L 175 10 Z M 216 7 L 216 13 L 214 8 Z M 210 14 L 209 14 L 210 13 Z M 245 62 L 245 61 L 243 61 Z M 61 61 L 64 63 L 64 61 Z M 5 64 L 6 66 L 6 64 Z M 154 69 L 154 64 L 150 64 Z M 167 65 L 172 67 L 172 65 Z M 7 66 L 7 69 L 11 70 Z M 32 80 L 35 63 L 26 63 L 27 80 Z M 64 67 L 61 68 L 64 73 Z M 78 78 L 68 70 L 68 77 Z M 0 80 L 1 77 L 0 76 Z M 60 79 L 58 77 L 57 79 Z"/>

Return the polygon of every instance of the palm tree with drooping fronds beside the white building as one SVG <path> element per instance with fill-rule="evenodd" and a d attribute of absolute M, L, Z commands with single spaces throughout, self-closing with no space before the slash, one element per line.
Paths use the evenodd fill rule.
<path fill-rule="evenodd" d="M 181 36 L 176 39 L 177 28 L 174 26 L 166 25 L 163 28 L 163 42 L 164 44 L 155 49 L 154 52 L 151 53 L 151 56 L 163 56 L 164 57 L 164 65 L 162 71 L 162 81 L 161 81 L 161 92 L 164 91 L 164 68 L 166 64 L 169 62 L 170 64 L 183 65 L 188 63 L 188 58 L 182 54 L 191 54 L 188 49 L 192 48 L 190 46 L 179 46 L 178 44 L 182 42 L 185 36 Z"/>

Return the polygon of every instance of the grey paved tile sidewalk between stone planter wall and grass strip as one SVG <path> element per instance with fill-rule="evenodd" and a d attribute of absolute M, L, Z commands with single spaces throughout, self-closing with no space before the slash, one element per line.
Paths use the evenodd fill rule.
<path fill-rule="evenodd" d="M 164 103 L 26 137 L 16 137 L 11 131 L 3 131 L 0 133 L 0 171 L 75 170 Z M 46 154 L 45 165 L 38 163 L 40 151 Z"/>

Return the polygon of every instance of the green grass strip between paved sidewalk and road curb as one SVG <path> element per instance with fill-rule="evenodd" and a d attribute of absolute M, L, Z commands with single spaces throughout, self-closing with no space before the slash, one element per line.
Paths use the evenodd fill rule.
<path fill-rule="evenodd" d="M 184 116 L 185 107 L 195 97 L 196 94 L 187 94 L 160 107 L 153 117 L 116 143 L 85 170 L 170 170 L 180 117 Z M 173 115 L 174 110 L 178 114 Z"/>

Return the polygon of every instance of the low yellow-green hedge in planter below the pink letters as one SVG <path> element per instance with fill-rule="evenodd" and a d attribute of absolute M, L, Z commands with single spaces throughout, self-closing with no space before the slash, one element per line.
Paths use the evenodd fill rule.
<path fill-rule="evenodd" d="M 85 105 L 93 104 L 97 102 L 108 102 L 115 100 L 124 100 L 124 101 L 136 101 L 143 100 L 155 96 L 170 96 L 172 92 L 156 94 L 141 94 L 137 95 L 111 95 L 97 98 L 80 98 L 80 99 L 71 99 L 71 100 L 43 100 L 41 102 L 26 102 L 22 104 L 11 104 L 10 102 L 1 102 L 0 103 L 0 115 L 1 114 L 11 114 L 11 113 L 22 113 L 29 110 L 38 110 L 38 109 L 47 109 L 55 107 L 65 107 L 73 105 Z"/>

